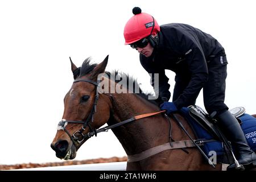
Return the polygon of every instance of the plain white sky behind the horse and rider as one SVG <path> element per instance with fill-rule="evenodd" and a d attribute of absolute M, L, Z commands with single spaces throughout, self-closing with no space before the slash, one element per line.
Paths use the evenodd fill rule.
<path fill-rule="evenodd" d="M 224 46 L 226 104 L 256 114 L 255 1 L 0 1 L 0 164 L 60 162 L 50 144 L 77 66 L 109 55 L 108 71 L 150 78 L 138 52 L 124 46 L 123 27 L 134 6 L 159 24 L 187 23 Z M 171 89 L 174 73 L 167 71 Z M 171 90 L 172 92 L 172 90 Z M 200 94 L 197 105 L 203 107 Z M 125 156 L 112 131 L 88 140 L 76 160 Z"/>

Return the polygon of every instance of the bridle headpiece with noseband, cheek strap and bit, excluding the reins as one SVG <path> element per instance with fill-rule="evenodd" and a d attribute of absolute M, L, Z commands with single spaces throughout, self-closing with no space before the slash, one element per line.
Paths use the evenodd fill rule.
<path fill-rule="evenodd" d="M 76 142 L 78 143 L 81 143 L 85 138 L 86 136 L 84 134 L 82 134 L 82 131 L 85 130 L 86 126 L 89 127 L 91 133 L 96 133 L 96 130 L 95 129 L 92 129 L 92 127 L 90 126 L 90 121 L 93 122 L 93 114 L 96 113 L 96 105 L 97 105 L 97 101 L 98 101 L 98 97 L 99 97 L 99 94 L 98 94 L 98 89 L 97 89 L 97 86 L 99 85 L 97 82 L 94 82 L 92 80 L 87 80 L 87 79 L 84 79 L 84 78 L 77 78 L 75 81 L 73 81 L 73 83 L 75 82 L 80 82 L 80 81 L 84 81 L 84 82 L 89 82 L 90 84 L 93 84 L 96 86 L 96 95 L 95 95 L 95 98 L 94 98 L 94 103 L 93 103 L 93 107 L 92 107 L 92 110 L 90 111 L 90 114 L 88 116 L 88 118 L 86 118 L 85 121 L 71 121 L 71 120 L 61 120 L 58 124 L 58 130 L 63 130 L 65 131 L 65 133 L 68 134 L 68 136 L 71 138 L 73 144 L 76 146 Z M 67 126 L 68 123 L 80 123 L 82 124 L 82 128 L 80 130 L 77 130 L 75 131 L 75 133 L 73 133 L 73 135 L 71 135 L 68 130 L 65 128 Z M 80 137 L 79 137 L 80 135 Z M 79 139 L 81 138 L 81 139 Z"/>

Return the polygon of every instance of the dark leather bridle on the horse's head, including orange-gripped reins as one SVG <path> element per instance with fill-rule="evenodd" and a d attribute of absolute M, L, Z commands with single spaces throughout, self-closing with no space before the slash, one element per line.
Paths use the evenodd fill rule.
<path fill-rule="evenodd" d="M 97 137 L 97 133 L 101 133 L 102 131 L 108 131 L 109 129 L 113 129 L 114 127 L 118 127 L 118 126 L 124 125 L 126 123 L 131 122 L 131 121 L 135 121 L 137 119 L 142 119 L 142 118 L 150 117 L 151 115 L 156 115 L 156 114 L 159 114 L 159 113 L 164 113 L 166 111 L 166 110 L 162 110 L 162 111 L 158 111 L 158 112 L 155 112 L 155 113 L 141 114 L 141 115 L 137 115 L 137 116 L 135 116 L 133 118 L 126 119 L 125 121 L 116 123 L 114 125 L 110 125 L 110 126 L 107 126 L 107 127 L 102 127 L 100 129 L 97 129 L 97 130 L 93 129 L 90 126 L 90 121 L 93 122 L 93 114 L 96 113 L 96 106 L 97 106 L 97 101 L 98 101 L 98 97 L 99 97 L 99 93 L 98 93 L 97 87 L 98 87 L 99 84 L 97 82 L 94 82 L 92 80 L 87 80 L 85 78 L 77 78 L 76 80 L 73 81 L 73 83 L 80 82 L 80 81 L 89 82 L 90 84 L 93 84 L 93 85 L 96 86 L 96 95 L 95 95 L 95 98 L 94 98 L 94 103 L 93 103 L 92 110 L 90 111 L 90 114 L 89 114 L 88 118 L 86 118 L 85 121 L 72 121 L 72 120 L 65 120 L 65 119 L 63 119 L 58 124 L 58 130 L 65 131 L 65 133 L 68 134 L 68 136 L 71 138 L 71 140 L 72 140 L 72 142 L 73 142 L 73 144 L 75 146 L 76 146 L 77 142 L 81 143 L 82 141 L 84 141 L 84 139 L 89 139 L 90 137 L 93 137 L 93 135 L 95 135 Z M 108 94 L 106 94 L 106 95 L 110 96 Z M 110 96 L 110 97 L 112 97 L 112 96 Z M 82 128 L 80 130 L 75 131 L 75 133 L 73 133 L 71 135 L 68 132 L 68 130 L 66 129 L 66 126 L 67 126 L 68 123 L 80 123 L 80 124 L 82 124 Z M 86 129 L 86 126 L 89 127 L 90 132 L 88 134 L 83 134 L 82 132 Z M 82 139 L 80 139 L 80 138 L 82 138 Z"/>

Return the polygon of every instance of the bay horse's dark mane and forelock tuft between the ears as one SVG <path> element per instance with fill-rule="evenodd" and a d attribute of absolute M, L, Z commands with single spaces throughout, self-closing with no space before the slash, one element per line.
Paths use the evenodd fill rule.
<path fill-rule="evenodd" d="M 80 75 L 79 77 L 81 76 L 85 76 L 87 75 L 88 73 L 90 73 L 96 66 L 97 64 L 92 64 L 90 63 L 91 62 L 91 58 L 88 57 L 84 60 L 84 63 L 82 63 L 81 67 L 80 67 Z M 158 105 L 158 103 L 155 101 L 155 100 L 149 100 L 148 99 L 148 96 L 153 96 L 152 93 L 149 93 L 149 92 L 143 92 L 137 79 L 134 79 L 133 76 L 130 76 L 129 74 L 126 74 L 126 73 L 123 73 L 123 72 L 120 72 L 120 71 L 113 71 L 113 72 L 105 72 L 109 77 L 110 75 L 113 75 L 114 74 L 114 77 L 116 77 L 117 75 L 121 78 L 124 78 L 126 77 L 127 78 L 127 86 L 129 87 L 129 82 L 133 82 L 133 93 L 135 93 L 135 88 L 139 88 L 139 93 L 135 93 L 137 94 L 138 96 L 144 98 L 145 100 L 151 102 L 152 104 L 155 104 L 155 105 Z M 120 80 L 115 80 L 116 83 L 118 83 Z M 129 89 L 129 88 L 127 88 Z M 137 91 L 138 92 L 138 91 Z"/>

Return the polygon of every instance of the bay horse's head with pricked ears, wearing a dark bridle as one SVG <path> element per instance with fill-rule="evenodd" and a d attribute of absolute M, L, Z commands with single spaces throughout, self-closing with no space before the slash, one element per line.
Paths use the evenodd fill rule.
<path fill-rule="evenodd" d="M 64 98 L 63 118 L 58 124 L 52 149 L 60 159 L 74 159 L 76 151 L 110 117 L 109 98 L 98 94 L 97 77 L 105 72 L 108 56 L 100 64 L 89 64 L 86 59 L 80 71 L 71 61 L 75 80 Z M 78 74 L 77 74 L 78 73 Z M 100 99 L 99 99 L 100 97 Z M 96 114 L 96 106 L 98 108 Z"/>

